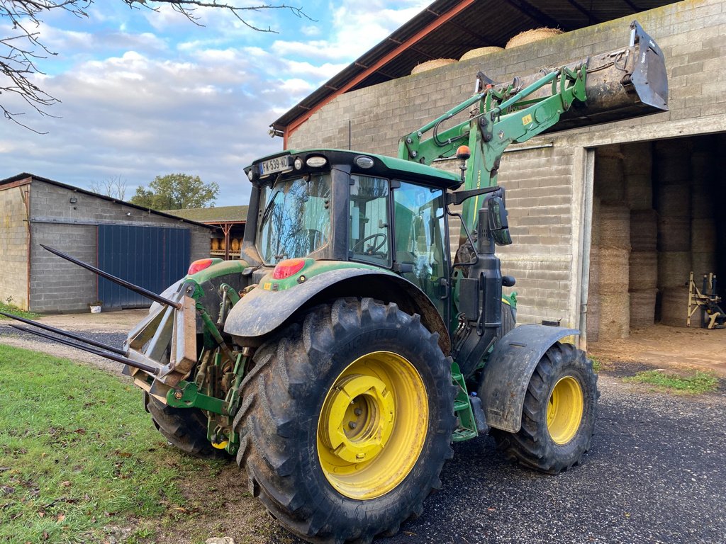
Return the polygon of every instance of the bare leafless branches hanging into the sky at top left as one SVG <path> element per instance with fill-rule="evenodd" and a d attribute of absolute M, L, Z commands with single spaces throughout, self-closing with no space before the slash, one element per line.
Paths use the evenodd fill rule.
<path fill-rule="evenodd" d="M 248 15 L 262 9 L 283 9 L 293 12 L 298 17 L 310 19 L 299 7 L 286 4 L 261 4 L 258 6 L 240 6 L 243 0 L 118 0 L 132 9 L 151 9 L 158 11 L 162 5 L 171 6 L 174 11 L 196 25 L 201 25 L 197 17 L 198 8 L 223 9 L 237 17 L 250 29 L 258 32 L 272 32 L 272 28 L 258 28 L 248 20 Z M 56 53 L 48 49 L 41 39 L 38 28 L 41 17 L 52 11 L 69 12 L 76 17 L 88 17 L 88 9 L 94 0 L 0 0 L 0 25 L 12 28 L 10 36 L 0 35 L 0 95 L 16 95 L 40 115 L 54 117 L 46 108 L 60 102 L 55 96 L 46 93 L 38 86 L 36 75 L 44 73 L 39 69 L 38 62 Z M 4 23 L 4 24 L 1 24 Z M 3 101 L 4 102 L 4 101 Z M 24 112 L 11 111 L 9 106 L 0 102 L 0 112 L 4 118 L 18 125 L 29 128 L 18 120 Z M 30 130 L 33 130 L 30 128 Z M 34 131 L 37 132 L 37 131 Z"/>

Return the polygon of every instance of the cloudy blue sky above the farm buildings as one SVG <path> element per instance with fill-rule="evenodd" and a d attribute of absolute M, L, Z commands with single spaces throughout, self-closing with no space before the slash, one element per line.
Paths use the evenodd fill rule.
<path fill-rule="evenodd" d="M 36 83 L 61 101 L 46 108 L 57 118 L 0 94 L 44 133 L 0 118 L 0 179 L 28 172 L 83 189 L 121 179 L 128 200 L 155 176 L 186 173 L 219 184 L 216 206 L 247 204 L 242 169 L 282 149 L 270 123 L 430 2 L 289 4 L 311 19 L 250 12 L 251 24 L 277 33 L 221 9 L 198 10 L 197 26 L 169 7 L 130 9 L 121 0 L 97 0 L 88 17 L 46 13 L 37 30 L 55 54 L 38 60 Z M 0 33 L 12 33 L 1 17 Z"/>

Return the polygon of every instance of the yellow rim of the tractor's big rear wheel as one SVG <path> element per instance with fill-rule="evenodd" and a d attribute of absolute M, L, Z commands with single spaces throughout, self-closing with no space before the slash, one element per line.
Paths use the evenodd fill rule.
<path fill-rule="evenodd" d="M 318 420 L 322 471 L 349 498 L 378 498 L 408 476 L 423 450 L 428 401 L 406 358 L 369 353 L 340 373 Z"/>

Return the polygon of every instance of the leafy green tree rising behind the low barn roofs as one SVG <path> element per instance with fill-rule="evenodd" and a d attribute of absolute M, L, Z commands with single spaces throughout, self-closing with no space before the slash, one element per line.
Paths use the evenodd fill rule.
<path fill-rule="evenodd" d="M 211 206 L 219 194 L 219 185 L 203 184 L 199 176 L 168 174 L 156 176 L 149 184 L 136 187 L 129 202 L 152 210 L 184 210 L 189 207 Z"/>

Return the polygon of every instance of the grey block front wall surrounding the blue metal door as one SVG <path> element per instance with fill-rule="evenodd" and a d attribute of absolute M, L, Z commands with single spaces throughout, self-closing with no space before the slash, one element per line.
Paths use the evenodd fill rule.
<path fill-rule="evenodd" d="M 30 309 L 38 312 L 88 310 L 97 300 L 94 273 L 47 252 L 46 244 L 97 265 L 97 225 L 163 226 L 191 231 L 190 258 L 208 256 L 211 229 L 34 180 L 31 185 Z M 71 203 L 70 199 L 76 199 Z M 131 214 L 131 215 L 127 215 Z"/>

